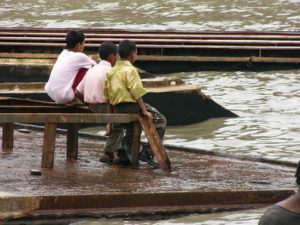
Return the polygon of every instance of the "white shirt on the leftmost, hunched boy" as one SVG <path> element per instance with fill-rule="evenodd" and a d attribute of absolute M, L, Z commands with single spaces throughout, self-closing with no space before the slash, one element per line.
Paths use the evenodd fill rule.
<path fill-rule="evenodd" d="M 74 99 L 72 85 L 81 68 L 89 69 L 96 62 L 82 52 L 63 50 L 54 64 L 49 80 L 45 85 L 47 94 L 60 104 L 67 104 Z"/>

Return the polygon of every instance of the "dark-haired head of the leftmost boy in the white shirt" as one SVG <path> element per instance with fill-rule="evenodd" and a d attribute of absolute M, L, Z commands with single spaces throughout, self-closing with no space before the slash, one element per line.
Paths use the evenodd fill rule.
<path fill-rule="evenodd" d="M 66 36 L 67 49 L 83 52 L 84 49 L 84 34 L 79 30 L 71 30 Z"/>

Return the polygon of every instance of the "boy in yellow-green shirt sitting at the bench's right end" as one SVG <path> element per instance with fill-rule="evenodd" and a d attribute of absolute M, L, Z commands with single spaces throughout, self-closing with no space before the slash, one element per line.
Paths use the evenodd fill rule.
<path fill-rule="evenodd" d="M 106 75 L 104 95 L 114 106 L 117 113 L 140 113 L 152 119 L 153 124 L 163 140 L 166 118 L 155 108 L 144 104 L 143 96 L 147 93 L 143 87 L 137 69 L 132 65 L 137 58 L 137 48 L 134 42 L 129 40 L 121 41 L 119 44 L 119 55 L 121 61 Z M 130 152 L 132 145 L 133 125 L 126 126 L 126 135 L 123 138 L 123 147 Z M 154 154 L 146 144 L 140 154 L 140 160 L 159 167 L 154 162 Z"/>

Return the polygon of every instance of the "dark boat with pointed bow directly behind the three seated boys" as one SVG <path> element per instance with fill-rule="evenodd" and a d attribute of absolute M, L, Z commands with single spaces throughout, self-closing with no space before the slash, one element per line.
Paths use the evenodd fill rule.
<path fill-rule="evenodd" d="M 170 126 L 198 123 L 216 117 L 238 117 L 205 95 L 198 85 L 185 84 L 181 79 L 144 79 L 142 82 L 148 90 L 144 101 L 165 115 Z M 12 99 L 10 103 L 0 100 L 0 103 L 3 108 L 8 104 L 11 108 L 18 108 L 20 104 L 30 108 L 39 101 L 44 106 L 46 101 L 48 106 L 58 107 L 45 93 L 44 86 L 43 82 L 0 83 L 0 96 L 19 98 L 18 101 Z M 87 107 L 85 110 L 88 110 Z"/>

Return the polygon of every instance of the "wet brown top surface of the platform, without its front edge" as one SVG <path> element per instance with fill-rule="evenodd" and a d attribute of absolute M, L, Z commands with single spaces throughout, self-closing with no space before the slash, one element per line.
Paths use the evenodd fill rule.
<path fill-rule="evenodd" d="M 0 197 L 116 193 L 293 189 L 294 167 L 168 150 L 172 173 L 101 163 L 103 141 L 80 138 L 79 158 L 66 159 L 66 136 L 57 135 L 53 169 L 40 169 L 43 132 L 15 130 L 13 152 L 0 152 Z"/>

